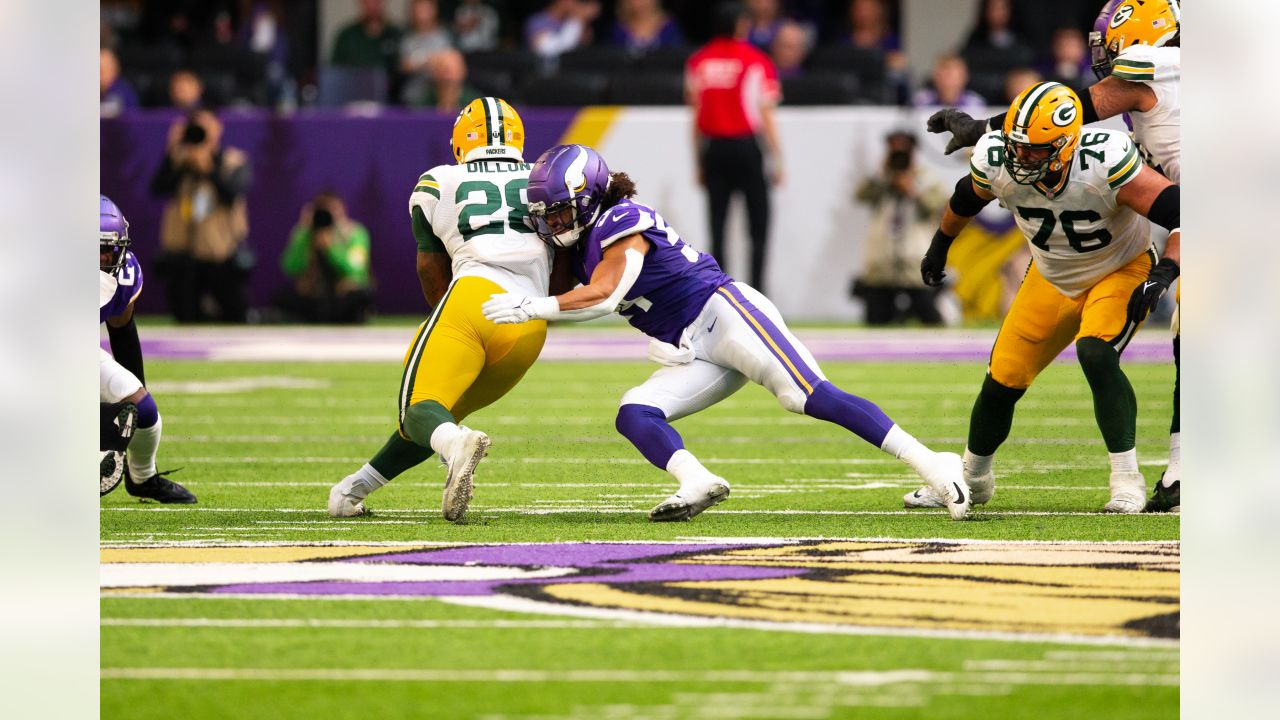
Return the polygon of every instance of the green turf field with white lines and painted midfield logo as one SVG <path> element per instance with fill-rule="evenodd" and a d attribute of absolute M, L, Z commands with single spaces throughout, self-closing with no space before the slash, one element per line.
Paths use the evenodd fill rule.
<path fill-rule="evenodd" d="M 200 505 L 101 501 L 102 716 L 1176 716 L 1178 518 L 1098 512 L 1106 450 L 1074 364 L 1020 402 L 996 496 L 964 523 L 904 511 L 905 466 L 748 387 L 676 424 L 732 497 L 650 524 L 673 488 L 613 414 L 652 370 L 536 365 L 467 420 L 494 445 L 451 524 L 434 459 L 372 516 L 325 514 L 393 429 L 397 364 L 148 361 L 160 468 Z M 963 448 L 980 365 L 824 370 Z M 1172 368 L 1128 372 L 1149 484 Z"/>

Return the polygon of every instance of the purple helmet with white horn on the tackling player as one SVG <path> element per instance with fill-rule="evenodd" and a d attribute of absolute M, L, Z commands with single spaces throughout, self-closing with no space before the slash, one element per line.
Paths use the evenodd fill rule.
<path fill-rule="evenodd" d="M 529 173 L 529 217 L 552 247 L 572 247 L 595 222 L 609 187 L 609 167 L 585 145 L 557 145 Z"/>

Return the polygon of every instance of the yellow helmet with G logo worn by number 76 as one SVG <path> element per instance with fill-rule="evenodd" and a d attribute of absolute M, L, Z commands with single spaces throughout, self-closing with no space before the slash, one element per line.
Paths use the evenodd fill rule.
<path fill-rule="evenodd" d="M 1005 167 L 1014 182 L 1032 184 L 1066 169 L 1080 142 L 1080 99 L 1060 82 L 1021 92 L 1005 115 Z"/>

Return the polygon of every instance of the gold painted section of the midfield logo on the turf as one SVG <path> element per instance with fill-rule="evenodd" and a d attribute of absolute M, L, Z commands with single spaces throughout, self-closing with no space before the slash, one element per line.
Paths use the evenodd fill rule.
<path fill-rule="evenodd" d="M 829 542 L 710 552 L 681 562 L 814 571 L 657 587 L 562 584 L 543 592 L 596 607 L 774 623 L 1117 637 L 1147 637 L 1147 629 L 1125 625 L 1179 611 L 1176 543 Z"/>

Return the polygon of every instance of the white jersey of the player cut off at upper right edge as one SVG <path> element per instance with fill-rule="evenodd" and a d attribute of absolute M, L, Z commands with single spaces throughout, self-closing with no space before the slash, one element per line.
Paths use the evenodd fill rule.
<path fill-rule="evenodd" d="M 1129 113 L 1129 118 L 1143 159 L 1175 183 L 1180 182 L 1181 174 L 1180 76 L 1180 47 L 1133 45 L 1121 50 L 1111 67 L 1111 77 L 1140 82 L 1156 94 L 1155 108 L 1146 113 Z"/>

